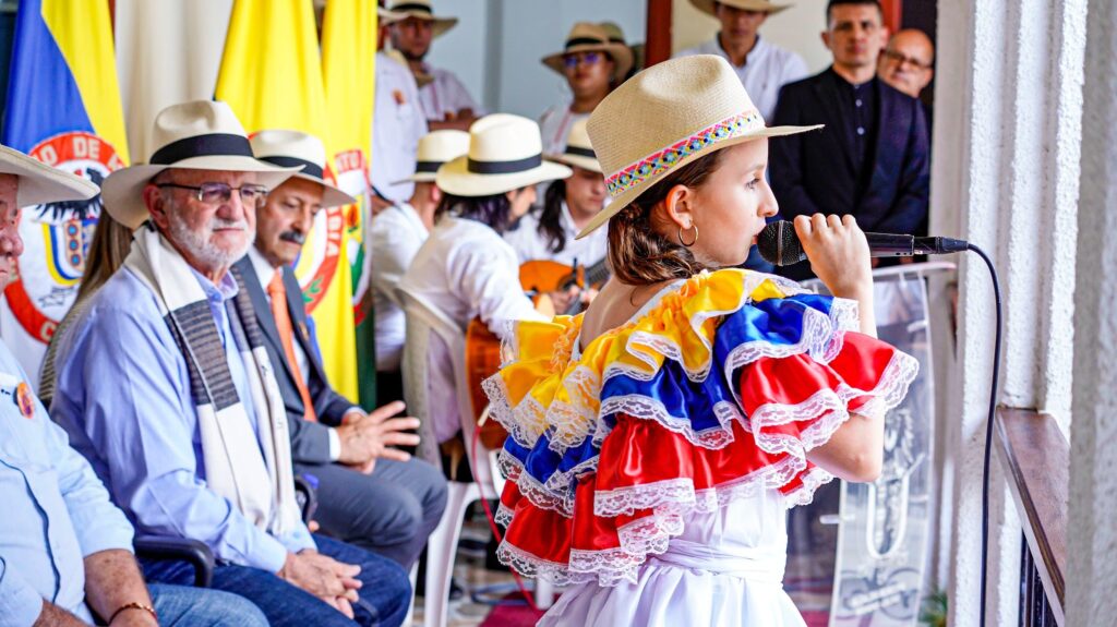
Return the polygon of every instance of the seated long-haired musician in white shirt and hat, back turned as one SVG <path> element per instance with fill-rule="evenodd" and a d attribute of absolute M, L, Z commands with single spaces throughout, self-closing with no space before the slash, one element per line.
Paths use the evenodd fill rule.
<path fill-rule="evenodd" d="M 570 176 L 543 161 L 540 129 L 531 119 L 493 114 L 469 129 L 469 152 L 438 168 L 442 191 L 435 229 L 408 268 L 400 289 L 426 298 L 462 329 L 480 318 L 506 339 L 508 322 L 541 319 L 519 288 L 516 252 L 500 234 L 527 213 L 535 185 Z M 451 360 L 432 346 L 428 398 L 439 443 L 459 431 Z"/>

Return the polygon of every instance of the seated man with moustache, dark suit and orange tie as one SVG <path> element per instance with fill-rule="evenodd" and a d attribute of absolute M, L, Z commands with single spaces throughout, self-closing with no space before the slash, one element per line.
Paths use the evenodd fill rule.
<path fill-rule="evenodd" d="M 418 419 L 393 417 L 402 403 L 366 415 L 330 386 L 292 271 L 314 214 L 355 201 L 323 181 L 325 151 L 311 135 L 262 131 L 252 151 L 262 161 L 305 166 L 257 209 L 256 244 L 235 266 L 283 390 L 295 471 L 317 479 L 315 520 L 323 532 L 410 568 L 442 518 L 446 480 L 439 469 L 392 448 L 419 441 L 407 433 Z"/>

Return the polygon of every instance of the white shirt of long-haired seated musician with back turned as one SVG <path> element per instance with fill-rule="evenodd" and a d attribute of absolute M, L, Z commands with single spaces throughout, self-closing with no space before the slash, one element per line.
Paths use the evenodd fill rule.
<path fill-rule="evenodd" d="M 510 320 L 544 320 L 519 288 L 516 251 L 488 225 L 445 216 L 416 254 L 400 287 L 417 293 L 458 324 L 462 331 L 480 317 L 489 330 L 508 339 Z M 438 442 L 461 426 L 447 347 L 431 338 L 427 406 Z"/>

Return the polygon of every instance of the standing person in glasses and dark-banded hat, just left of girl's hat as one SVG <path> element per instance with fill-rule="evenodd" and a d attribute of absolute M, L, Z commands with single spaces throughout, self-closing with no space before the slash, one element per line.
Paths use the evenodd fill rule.
<path fill-rule="evenodd" d="M 599 25 L 579 22 L 566 36 L 563 50 L 542 60 L 566 79 L 571 91 L 570 99 L 540 116 L 543 152 L 556 155 L 566 147 L 571 125 L 590 117 L 598 103 L 628 76 L 632 50 L 623 41 L 610 40 L 609 32 Z"/>

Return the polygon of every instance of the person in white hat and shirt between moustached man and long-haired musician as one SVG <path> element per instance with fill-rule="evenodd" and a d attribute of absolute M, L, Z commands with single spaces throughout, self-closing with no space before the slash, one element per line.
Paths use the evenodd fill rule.
<path fill-rule="evenodd" d="M 369 248 L 372 251 L 373 311 L 376 312 L 376 398 L 401 401 L 403 380 L 400 361 L 405 339 L 403 310 L 395 297 L 400 279 L 411 266 L 419 248 L 435 228 L 435 210 L 442 191 L 435 184 L 439 166 L 469 151 L 465 131 L 436 131 L 419 141 L 414 174 L 407 180 L 414 185 L 408 202 L 395 203 L 372 219 Z"/>

